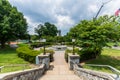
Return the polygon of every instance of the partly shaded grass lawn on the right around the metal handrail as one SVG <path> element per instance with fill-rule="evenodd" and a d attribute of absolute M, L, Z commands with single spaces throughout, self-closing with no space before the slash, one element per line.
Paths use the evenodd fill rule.
<path fill-rule="evenodd" d="M 116 69 L 120 70 L 120 50 L 115 50 L 111 48 L 104 48 L 102 54 L 97 57 L 96 59 L 90 60 L 86 62 L 87 64 L 100 64 L 100 65 L 110 65 L 115 67 Z M 100 71 L 107 71 L 111 72 L 108 68 L 104 67 L 90 67 L 84 66 L 86 68 L 100 70 Z"/>

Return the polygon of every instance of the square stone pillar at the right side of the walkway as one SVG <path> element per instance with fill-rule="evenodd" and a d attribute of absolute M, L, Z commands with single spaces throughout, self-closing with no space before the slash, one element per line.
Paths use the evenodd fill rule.
<path fill-rule="evenodd" d="M 79 64 L 80 63 L 80 57 L 79 55 L 72 55 L 72 54 L 69 54 L 68 55 L 68 64 L 69 64 L 69 69 L 70 70 L 73 70 L 73 65 L 74 64 Z"/>

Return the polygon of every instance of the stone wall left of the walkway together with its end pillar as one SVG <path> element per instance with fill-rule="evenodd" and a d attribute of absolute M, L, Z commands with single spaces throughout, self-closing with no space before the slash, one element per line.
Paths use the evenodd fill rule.
<path fill-rule="evenodd" d="M 0 80 L 38 80 L 45 70 L 49 69 L 50 54 L 38 55 L 36 57 L 38 68 L 25 71 L 17 71 L 6 74 L 0 74 Z"/>

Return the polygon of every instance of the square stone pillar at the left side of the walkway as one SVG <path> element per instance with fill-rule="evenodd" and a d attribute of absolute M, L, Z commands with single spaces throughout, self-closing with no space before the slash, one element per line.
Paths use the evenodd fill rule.
<path fill-rule="evenodd" d="M 46 54 L 46 55 L 38 55 L 36 58 L 36 63 L 37 64 L 45 64 L 46 69 L 49 69 L 49 65 L 50 65 L 50 54 Z"/>

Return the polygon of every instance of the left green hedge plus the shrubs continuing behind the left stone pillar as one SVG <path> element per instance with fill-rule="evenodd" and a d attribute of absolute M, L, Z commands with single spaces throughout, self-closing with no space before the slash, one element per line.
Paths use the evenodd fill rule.
<path fill-rule="evenodd" d="M 22 46 L 17 48 L 17 54 L 19 57 L 23 58 L 24 60 L 31 62 L 31 63 L 35 63 L 35 58 L 37 55 L 43 53 L 43 49 L 40 49 L 40 51 L 35 51 L 35 50 L 31 50 L 28 46 Z M 45 50 L 46 53 L 50 53 L 50 61 L 53 61 L 53 54 L 55 53 L 53 50 Z"/>

